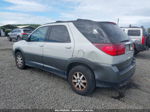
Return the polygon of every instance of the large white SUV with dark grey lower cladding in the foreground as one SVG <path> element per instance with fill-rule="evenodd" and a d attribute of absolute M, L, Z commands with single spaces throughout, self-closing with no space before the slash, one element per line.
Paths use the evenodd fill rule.
<path fill-rule="evenodd" d="M 66 78 L 88 95 L 95 87 L 118 87 L 135 72 L 133 44 L 112 22 L 59 21 L 37 28 L 13 45 L 19 69 L 31 66 Z"/>

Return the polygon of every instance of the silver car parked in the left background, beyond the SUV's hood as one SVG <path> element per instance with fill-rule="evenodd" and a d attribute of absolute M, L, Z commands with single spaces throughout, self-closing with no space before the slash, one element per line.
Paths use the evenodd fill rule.
<path fill-rule="evenodd" d="M 31 29 L 27 28 L 17 28 L 12 30 L 10 33 L 8 33 L 8 40 L 12 41 L 12 39 L 18 40 L 24 40 L 28 37 L 28 35 L 32 32 Z"/>

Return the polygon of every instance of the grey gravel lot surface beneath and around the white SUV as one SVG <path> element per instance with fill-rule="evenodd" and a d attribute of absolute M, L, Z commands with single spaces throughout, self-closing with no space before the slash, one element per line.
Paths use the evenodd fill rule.
<path fill-rule="evenodd" d="M 0 109 L 122 109 L 150 108 L 150 51 L 140 53 L 137 69 L 125 97 L 114 99 L 113 89 L 98 88 L 91 96 L 74 93 L 67 81 L 35 68 L 19 70 L 12 44 L 0 38 Z M 124 89 L 123 89 L 124 90 Z"/>

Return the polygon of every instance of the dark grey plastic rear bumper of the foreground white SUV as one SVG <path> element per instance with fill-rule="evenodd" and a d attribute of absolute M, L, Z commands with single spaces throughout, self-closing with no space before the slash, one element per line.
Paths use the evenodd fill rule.
<path fill-rule="evenodd" d="M 98 69 L 98 67 L 100 69 Z M 118 87 L 126 84 L 133 76 L 136 68 L 135 59 L 132 63 L 119 70 L 117 65 L 97 65 L 94 70 L 97 87 Z"/>

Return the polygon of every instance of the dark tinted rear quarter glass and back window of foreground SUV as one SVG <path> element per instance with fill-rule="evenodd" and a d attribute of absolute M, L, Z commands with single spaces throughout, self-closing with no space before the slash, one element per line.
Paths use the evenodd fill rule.
<path fill-rule="evenodd" d="M 116 24 L 76 21 L 74 25 L 92 43 L 120 43 L 129 40 Z"/>

